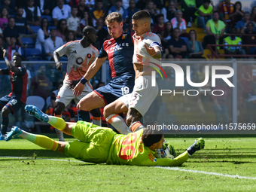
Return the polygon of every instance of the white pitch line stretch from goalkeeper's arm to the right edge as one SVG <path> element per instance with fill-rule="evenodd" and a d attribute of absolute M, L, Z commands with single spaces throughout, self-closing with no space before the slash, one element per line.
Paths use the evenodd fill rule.
<path fill-rule="evenodd" d="M 155 166 L 156 168 L 161 168 L 161 169 L 169 169 L 169 170 L 174 170 L 174 171 L 180 171 L 180 172 L 194 172 L 194 173 L 202 173 L 206 175 L 217 175 L 221 177 L 227 177 L 227 178 L 245 178 L 245 179 L 253 179 L 256 180 L 256 177 L 246 177 L 246 176 L 240 176 L 240 175 L 229 175 L 229 174 L 223 174 L 219 172 L 204 172 L 204 171 L 198 171 L 198 170 L 191 170 L 191 169 L 180 169 L 178 167 L 169 167 L 169 166 Z"/>

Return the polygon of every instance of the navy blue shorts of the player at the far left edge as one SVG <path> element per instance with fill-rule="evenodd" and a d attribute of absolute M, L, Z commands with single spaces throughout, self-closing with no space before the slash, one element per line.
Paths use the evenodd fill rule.
<path fill-rule="evenodd" d="M 10 108 L 11 114 L 14 114 L 15 111 L 18 111 L 21 107 L 24 106 L 24 103 L 20 101 L 20 98 L 15 96 L 3 96 L 0 99 L 0 107 L 1 109 L 6 106 Z"/>

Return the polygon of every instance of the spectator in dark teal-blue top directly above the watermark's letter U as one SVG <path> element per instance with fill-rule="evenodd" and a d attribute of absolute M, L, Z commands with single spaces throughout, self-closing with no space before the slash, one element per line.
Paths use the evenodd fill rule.
<path fill-rule="evenodd" d="M 200 41 L 197 41 L 197 32 L 191 29 L 188 33 L 187 53 L 190 59 L 203 59 L 203 46 Z"/>

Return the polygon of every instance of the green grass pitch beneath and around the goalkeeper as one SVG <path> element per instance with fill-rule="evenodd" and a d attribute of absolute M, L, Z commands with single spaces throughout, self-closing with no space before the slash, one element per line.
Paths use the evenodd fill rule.
<path fill-rule="evenodd" d="M 197 137 L 177 135 L 166 140 L 181 154 Z M 0 141 L 0 191 L 255 191 L 255 137 L 203 137 L 204 150 L 170 169 L 96 165 L 24 139 Z"/>

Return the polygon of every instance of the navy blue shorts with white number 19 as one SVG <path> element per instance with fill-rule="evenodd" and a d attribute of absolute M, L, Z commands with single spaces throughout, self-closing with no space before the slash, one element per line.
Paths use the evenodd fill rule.
<path fill-rule="evenodd" d="M 105 100 L 105 105 L 108 105 L 121 96 L 132 93 L 134 80 L 133 74 L 123 74 L 120 77 L 113 78 L 107 85 L 99 87 L 94 92 Z"/>

